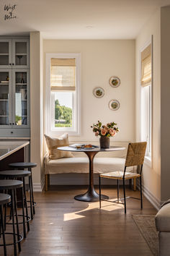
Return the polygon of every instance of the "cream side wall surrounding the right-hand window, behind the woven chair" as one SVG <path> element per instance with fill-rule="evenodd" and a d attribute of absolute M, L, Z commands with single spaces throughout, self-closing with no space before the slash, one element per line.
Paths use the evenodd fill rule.
<path fill-rule="evenodd" d="M 161 14 L 158 10 L 140 31 L 135 43 L 136 140 L 140 141 L 140 49 L 153 35 L 153 168 L 143 166 L 144 192 L 158 206 L 161 200 Z"/>

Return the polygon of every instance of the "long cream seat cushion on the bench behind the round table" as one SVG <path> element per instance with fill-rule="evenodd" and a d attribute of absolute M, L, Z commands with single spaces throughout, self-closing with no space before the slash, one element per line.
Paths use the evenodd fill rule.
<path fill-rule="evenodd" d="M 94 173 L 104 174 L 109 171 L 123 171 L 125 158 L 94 158 Z M 128 167 L 127 171 L 135 171 Z M 45 174 L 89 173 L 89 158 L 60 158 L 49 160 L 45 156 Z"/>

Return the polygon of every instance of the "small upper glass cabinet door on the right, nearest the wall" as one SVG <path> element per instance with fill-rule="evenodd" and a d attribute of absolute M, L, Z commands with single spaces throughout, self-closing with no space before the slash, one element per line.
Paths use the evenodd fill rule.
<path fill-rule="evenodd" d="M 12 67 L 29 68 L 29 39 L 12 39 Z"/>

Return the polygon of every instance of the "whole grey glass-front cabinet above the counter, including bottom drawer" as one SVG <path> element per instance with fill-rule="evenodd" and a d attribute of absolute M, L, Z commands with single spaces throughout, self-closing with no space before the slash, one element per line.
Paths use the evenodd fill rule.
<path fill-rule="evenodd" d="M 30 136 L 29 67 L 29 39 L 0 38 L 0 137 Z"/>

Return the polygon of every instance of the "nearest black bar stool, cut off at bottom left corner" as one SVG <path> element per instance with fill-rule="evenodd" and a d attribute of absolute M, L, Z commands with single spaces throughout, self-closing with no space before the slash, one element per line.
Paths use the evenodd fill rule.
<path fill-rule="evenodd" d="M 3 216 L 3 205 L 11 201 L 11 196 L 7 194 L 0 194 L 0 218 L 1 218 L 1 233 L 3 236 L 3 244 L 0 246 L 4 246 L 4 256 L 6 256 L 6 239 L 5 239 L 5 231 L 4 231 L 4 216 Z"/>

